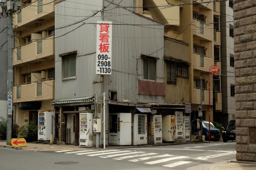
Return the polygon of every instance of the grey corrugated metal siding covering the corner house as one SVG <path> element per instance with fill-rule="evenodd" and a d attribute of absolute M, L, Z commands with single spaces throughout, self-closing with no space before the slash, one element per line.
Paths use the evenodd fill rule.
<path fill-rule="evenodd" d="M 55 7 L 55 11 L 57 14 L 64 14 L 63 11 L 65 11 L 67 16 L 72 16 L 74 14 L 76 14 L 76 16 L 88 16 L 92 10 L 99 10 L 100 8 L 99 4 L 94 1 L 86 3 L 97 6 L 81 5 L 80 3 L 84 3 L 84 1 L 76 2 L 77 3 L 69 3 L 63 1 L 63 3 L 58 3 Z M 122 6 L 131 6 L 132 4 L 131 1 L 121 2 Z M 66 5 L 69 6 L 69 8 L 66 8 Z M 108 6 L 108 2 L 105 1 L 104 6 Z M 75 13 L 76 8 L 83 8 L 84 11 L 78 10 L 80 12 Z M 61 25 L 67 25 L 74 22 L 70 20 L 65 21 L 63 17 L 65 18 L 65 16 L 62 16 L 58 20 L 55 20 L 55 26 L 57 28 Z M 76 17 L 71 17 L 71 19 L 76 19 L 76 21 L 79 20 Z M 85 22 L 96 23 L 97 20 L 100 20 L 100 18 L 92 17 Z M 108 90 L 112 90 L 117 91 L 118 101 L 164 103 L 163 96 L 138 96 L 136 77 L 136 68 L 138 68 L 138 79 L 143 79 L 142 60 L 140 59 L 141 55 L 150 55 L 163 48 L 164 26 L 144 17 L 137 16 L 128 10 L 115 8 L 115 5 L 110 5 L 105 9 L 104 20 L 112 21 L 113 24 L 138 24 L 135 26 L 113 25 L 112 75 L 104 77 L 104 86 L 102 87 L 102 90 L 107 94 L 107 98 Z M 142 24 L 146 26 L 141 26 Z M 69 32 L 76 28 L 76 26 L 69 26 L 63 30 L 57 30 L 55 37 Z M 66 36 L 57 38 L 55 42 L 55 60 L 57 61 L 55 66 L 55 99 L 78 98 L 82 96 L 91 96 L 96 91 L 99 93 L 103 92 L 101 91 L 99 83 L 93 84 L 93 82 L 100 82 L 100 76 L 95 75 L 96 53 L 94 52 L 96 52 L 96 25 L 83 25 L 81 28 L 74 30 Z M 61 58 L 58 55 L 76 50 L 78 52 L 77 55 L 80 56 L 77 57 L 77 79 L 62 81 Z M 87 55 L 90 53 L 92 54 Z M 150 56 L 159 57 L 159 60 L 157 60 L 156 82 L 164 82 L 163 49 Z M 74 96 L 74 94 L 76 94 L 76 96 Z"/>

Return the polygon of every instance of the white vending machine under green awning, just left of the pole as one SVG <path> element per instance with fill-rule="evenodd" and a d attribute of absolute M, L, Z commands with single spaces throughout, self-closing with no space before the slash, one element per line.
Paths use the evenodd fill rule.
<path fill-rule="evenodd" d="M 80 113 L 80 146 L 93 146 L 93 113 Z"/>

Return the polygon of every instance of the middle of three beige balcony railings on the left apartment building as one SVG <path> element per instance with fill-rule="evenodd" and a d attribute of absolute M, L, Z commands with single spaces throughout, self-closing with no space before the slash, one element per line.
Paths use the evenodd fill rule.
<path fill-rule="evenodd" d="M 48 37 L 45 40 L 34 41 L 14 49 L 13 65 L 22 64 L 37 59 L 43 59 L 44 57 L 54 59 L 54 53 L 54 37 Z"/>

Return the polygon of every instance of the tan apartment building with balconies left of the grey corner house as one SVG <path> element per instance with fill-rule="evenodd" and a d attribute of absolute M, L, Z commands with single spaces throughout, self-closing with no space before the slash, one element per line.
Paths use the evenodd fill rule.
<path fill-rule="evenodd" d="M 36 121 L 38 110 L 52 110 L 55 84 L 54 2 L 22 0 L 13 16 L 14 122 Z"/>

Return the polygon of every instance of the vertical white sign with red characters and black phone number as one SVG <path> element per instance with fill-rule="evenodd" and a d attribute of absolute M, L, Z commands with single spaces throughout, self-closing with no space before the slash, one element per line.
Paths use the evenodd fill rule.
<path fill-rule="evenodd" d="M 96 74 L 111 75 L 112 22 L 97 21 Z"/>

